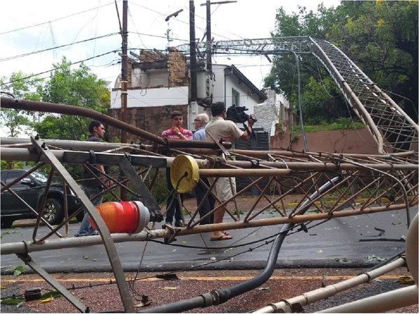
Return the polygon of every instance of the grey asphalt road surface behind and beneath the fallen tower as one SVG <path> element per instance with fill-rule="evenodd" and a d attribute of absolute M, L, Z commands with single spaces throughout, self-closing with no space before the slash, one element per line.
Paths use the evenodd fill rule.
<path fill-rule="evenodd" d="M 418 207 L 411 209 L 411 218 Z M 267 216 L 268 217 L 268 216 Z M 228 220 L 227 220 L 228 221 Z M 277 268 L 371 267 L 404 250 L 406 211 L 335 218 L 321 225 L 308 225 L 307 232 L 290 234 L 281 246 Z M 311 226 L 314 226 L 310 228 Z M 159 229 L 161 223 L 156 225 Z M 148 242 L 115 244 L 125 271 L 181 269 L 261 269 L 265 267 L 274 234 L 281 226 L 230 230 L 233 239 L 210 241 L 209 234 L 178 237 L 172 245 Z M 40 227 L 38 236 L 47 228 Z M 70 225 L 72 236 L 78 224 Z M 383 231 L 381 231 L 383 230 Z M 30 240 L 33 228 L 1 230 L 1 242 Z M 269 238 L 270 237 L 270 238 Z M 242 246 L 239 246 L 242 245 Z M 190 248 L 197 246 L 198 248 Z M 49 272 L 111 271 L 102 245 L 34 252 L 32 259 Z M 1 255 L 1 274 L 23 264 L 15 255 Z"/>

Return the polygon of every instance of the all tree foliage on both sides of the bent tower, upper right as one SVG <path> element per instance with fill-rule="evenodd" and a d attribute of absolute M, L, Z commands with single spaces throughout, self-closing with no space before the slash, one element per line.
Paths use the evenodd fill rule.
<path fill-rule="evenodd" d="M 337 8 L 300 6 L 277 10 L 272 36 L 311 36 L 339 47 L 378 87 L 418 119 L 418 1 L 341 1 Z M 348 115 L 328 73 L 311 55 L 300 56 L 304 121 Z M 297 74 L 291 57 L 275 57 L 265 87 L 297 103 Z"/>

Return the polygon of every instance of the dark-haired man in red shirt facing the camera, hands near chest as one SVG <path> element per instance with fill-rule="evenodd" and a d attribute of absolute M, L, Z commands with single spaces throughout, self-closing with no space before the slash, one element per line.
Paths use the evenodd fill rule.
<path fill-rule="evenodd" d="M 191 130 L 186 130 L 182 127 L 182 112 L 172 112 L 172 114 L 170 114 L 170 119 L 172 119 L 172 127 L 168 130 L 164 130 L 163 133 L 161 133 L 161 137 L 166 137 L 169 140 L 192 140 L 193 134 Z M 173 216 L 175 216 L 175 226 L 182 227 L 182 208 L 179 206 L 180 204 L 175 197 L 176 191 L 174 190 L 172 182 L 170 181 L 170 168 L 166 168 L 166 179 L 168 183 L 168 190 L 170 191 L 166 205 L 166 223 L 172 225 Z"/>

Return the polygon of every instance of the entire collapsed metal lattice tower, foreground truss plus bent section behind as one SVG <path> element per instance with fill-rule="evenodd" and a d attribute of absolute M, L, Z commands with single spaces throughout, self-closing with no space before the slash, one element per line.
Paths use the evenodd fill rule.
<path fill-rule="evenodd" d="M 133 301 L 115 250 L 116 242 L 157 238 L 172 241 L 185 234 L 278 224 L 298 224 L 307 230 L 316 221 L 320 223 L 331 218 L 393 210 L 406 210 L 410 220 L 409 207 L 418 204 L 418 125 L 337 47 L 321 40 L 295 37 L 217 42 L 214 43 L 213 50 L 215 53 L 226 53 L 222 50 L 228 50 L 228 53 L 237 54 L 276 54 L 284 51 L 314 54 L 329 70 L 348 103 L 369 128 L 378 143 L 378 154 L 244 151 L 230 149 L 229 143 L 170 141 L 85 108 L 1 98 L 2 107 L 91 117 L 154 143 L 87 144 L 33 137 L 30 140 L 2 138 L 2 160 L 35 161 L 37 165 L 30 171 L 44 164 L 52 165 L 51 176 L 54 172 L 61 175 L 65 184 L 78 196 L 82 204 L 80 211 L 83 206 L 89 211 L 101 235 L 78 239 L 59 233 L 68 220 L 77 214 L 75 213 L 57 227 L 48 226 L 51 232 L 37 239 L 36 230 L 41 223 L 41 218 L 38 217 L 32 239 L 1 244 L 1 254 L 17 254 L 79 311 L 85 312 L 87 307 L 31 260 L 29 253 L 103 243 L 115 273 L 124 310 L 133 312 Z M 95 151 L 94 156 L 89 152 L 92 149 Z M 124 177 L 108 177 L 114 186 L 104 193 L 112 192 L 115 187 L 126 188 L 126 181 L 129 181 L 134 188 L 128 189 L 128 193 L 142 200 L 154 221 L 161 221 L 161 210 L 151 190 L 158 170 L 172 167 L 175 158 L 168 156 L 191 157 L 197 165 L 199 177 L 247 178 L 246 186 L 237 190 L 237 194 L 230 200 L 219 205 L 227 207 L 226 215 L 233 219 L 232 223 L 199 225 L 198 210 L 187 208 L 185 227 L 168 226 L 162 230 L 153 230 L 150 227 L 138 234 L 110 234 L 98 211 L 64 167 L 64 164 L 84 163 L 119 166 Z M 235 160 L 226 158 L 228 156 L 234 156 Z M 178 182 L 191 181 L 191 171 L 188 169 L 180 168 L 179 173 L 184 175 L 177 178 Z M 22 177 L 16 181 L 20 179 Z M 8 190 L 14 183 L 6 185 L 1 182 L 1 192 Z M 241 216 L 235 201 L 251 188 L 256 188 L 259 195 L 253 203 L 247 204 L 247 213 Z M 290 195 L 294 195 L 293 201 L 290 200 Z M 295 195 L 298 195 L 296 201 Z M 214 208 L 212 212 L 218 208 Z M 271 214 L 270 218 L 264 218 L 263 214 L 267 212 Z"/>

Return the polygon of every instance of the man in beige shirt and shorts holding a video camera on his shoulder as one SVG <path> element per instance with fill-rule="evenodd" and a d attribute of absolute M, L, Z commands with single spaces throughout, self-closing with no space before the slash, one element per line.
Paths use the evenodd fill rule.
<path fill-rule="evenodd" d="M 226 119 L 226 104 L 223 102 L 217 102 L 211 104 L 211 121 L 205 126 L 205 133 L 207 133 L 207 140 L 211 138 L 214 140 L 223 140 L 226 142 L 234 143 L 235 140 L 249 140 L 251 138 L 251 126 L 255 120 L 249 116 L 249 132 L 244 132 L 230 120 Z M 208 178 L 210 184 L 214 182 L 215 178 Z M 228 200 L 230 197 L 233 197 L 235 194 L 235 178 L 218 178 L 214 184 L 214 194 L 220 202 Z M 216 202 L 216 206 L 218 201 Z M 214 212 L 214 223 L 222 223 L 224 218 L 224 213 L 226 212 L 226 207 L 220 207 Z M 233 239 L 233 237 L 228 234 L 228 232 L 223 231 L 214 231 L 211 232 L 211 241 L 223 241 Z"/>

